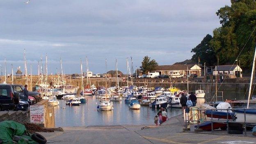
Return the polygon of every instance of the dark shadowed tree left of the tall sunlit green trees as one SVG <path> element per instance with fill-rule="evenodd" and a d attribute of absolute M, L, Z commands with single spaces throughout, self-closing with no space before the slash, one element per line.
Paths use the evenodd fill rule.
<path fill-rule="evenodd" d="M 198 58 L 202 63 L 206 63 L 206 66 L 213 66 L 216 63 L 216 53 L 212 46 L 210 46 L 210 41 L 213 37 L 207 34 L 201 43 L 191 50 L 194 53 L 192 60 L 197 62 Z"/>

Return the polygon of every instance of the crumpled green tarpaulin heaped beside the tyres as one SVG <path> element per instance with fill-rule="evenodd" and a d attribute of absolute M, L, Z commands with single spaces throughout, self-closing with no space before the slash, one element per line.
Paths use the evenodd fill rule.
<path fill-rule="evenodd" d="M 13 144 L 13 136 L 17 135 L 28 139 L 28 144 L 38 144 L 33 141 L 32 138 L 28 135 L 23 135 L 26 132 L 26 127 L 15 121 L 2 121 L 0 122 L 0 139 L 2 139 L 3 144 Z M 27 144 L 24 139 L 20 139 L 18 144 Z"/>

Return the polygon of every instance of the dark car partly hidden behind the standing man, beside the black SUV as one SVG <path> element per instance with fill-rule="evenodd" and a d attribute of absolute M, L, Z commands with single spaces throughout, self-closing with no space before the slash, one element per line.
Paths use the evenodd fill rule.
<path fill-rule="evenodd" d="M 23 85 L 11 85 L 11 86 L 13 87 L 14 91 L 17 91 L 21 95 L 24 95 L 23 94 L 23 89 L 25 87 Z M 29 91 L 28 96 L 29 96 L 29 100 L 31 101 L 31 104 L 35 104 L 35 103 L 38 103 L 39 101 L 42 101 L 42 97 L 41 97 L 41 94 L 39 92 Z M 30 98 L 30 96 L 34 97 L 34 100 L 33 100 L 33 98 Z"/>

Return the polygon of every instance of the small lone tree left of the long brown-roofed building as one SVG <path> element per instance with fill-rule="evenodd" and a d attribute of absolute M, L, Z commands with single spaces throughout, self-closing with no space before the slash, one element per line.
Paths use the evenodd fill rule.
<path fill-rule="evenodd" d="M 155 71 L 156 66 L 158 66 L 158 63 L 155 61 L 155 59 L 150 60 L 150 57 L 145 56 L 142 61 L 142 66 L 140 66 L 140 69 L 145 74 L 146 71 Z"/>

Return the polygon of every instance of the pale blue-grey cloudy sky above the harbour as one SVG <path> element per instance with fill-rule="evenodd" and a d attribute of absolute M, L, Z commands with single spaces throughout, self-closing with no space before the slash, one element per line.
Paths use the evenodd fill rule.
<path fill-rule="evenodd" d="M 191 49 L 219 27 L 215 14 L 230 0 L 0 0 L 0 64 L 3 73 L 18 66 L 37 73 L 48 55 L 48 73 L 126 73 L 126 58 L 134 69 L 144 56 L 159 65 L 191 59 Z M 43 66 L 44 67 L 44 66 Z"/>

